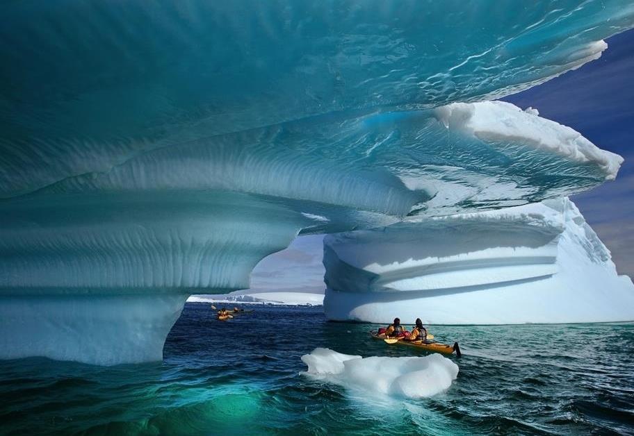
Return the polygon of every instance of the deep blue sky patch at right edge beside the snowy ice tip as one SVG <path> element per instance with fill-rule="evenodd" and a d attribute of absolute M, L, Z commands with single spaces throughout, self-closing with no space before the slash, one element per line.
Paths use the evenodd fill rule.
<path fill-rule="evenodd" d="M 533 106 L 624 157 L 616 181 L 573 200 L 612 251 L 619 273 L 634 277 L 634 31 L 607 42 L 599 60 L 505 100 Z"/>

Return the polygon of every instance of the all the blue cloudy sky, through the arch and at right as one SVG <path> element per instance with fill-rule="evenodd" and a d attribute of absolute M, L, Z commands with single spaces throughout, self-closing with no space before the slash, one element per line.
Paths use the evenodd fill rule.
<path fill-rule="evenodd" d="M 634 30 L 607 42 L 599 60 L 504 100 L 537 108 L 624 157 L 616 181 L 573 200 L 612 252 L 619 274 L 634 278 Z M 322 242 L 323 235 L 298 237 L 263 259 L 252 272 L 252 290 L 323 291 Z"/>

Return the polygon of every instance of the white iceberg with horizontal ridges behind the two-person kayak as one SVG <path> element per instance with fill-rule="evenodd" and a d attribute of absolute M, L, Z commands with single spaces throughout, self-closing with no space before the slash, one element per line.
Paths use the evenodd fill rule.
<path fill-rule="evenodd" d="M 387 323 L 634 320 L 634 285 L 567 198 L 324 240 L 327 317 Z"/>

